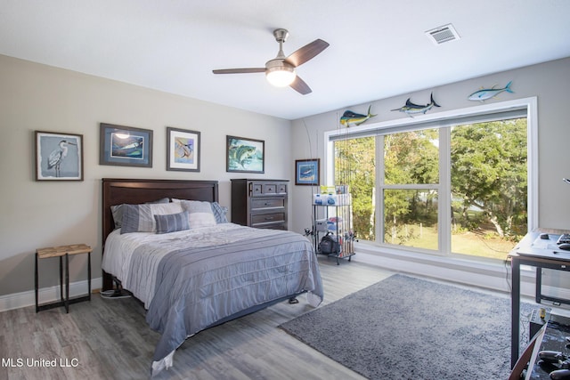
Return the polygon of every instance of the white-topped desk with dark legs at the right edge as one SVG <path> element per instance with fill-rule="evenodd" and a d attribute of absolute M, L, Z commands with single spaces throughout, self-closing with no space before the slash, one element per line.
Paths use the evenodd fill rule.
<path fill-rule="evenodd" d="M 540 238 L 541 233 L 548 233 L 550 239 Z M 536 230 L 526 234 L 510 253 L 510 263 L 512 268 L 512 294 L 511 294 L 511 346 L 510 346 L 510 367 L 517 363 L 519 354 L 520 335 L 520 266 L 530 265 L 537 268 L 548 268 L 557 271 L 570 271 L 570 251 L 556 249 L 556 240 L 563 231 Z M 540 281 L 540 278 L 539 278 Z M 540 282 L 537 282 L 536 295 L 540 295 Z M 537 299 L 540 303 L 540 299 Z"/>

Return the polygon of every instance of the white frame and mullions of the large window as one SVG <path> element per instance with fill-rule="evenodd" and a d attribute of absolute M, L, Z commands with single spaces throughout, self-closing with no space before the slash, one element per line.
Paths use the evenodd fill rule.
<path fill-rule="evenodd" d="M 347 129 L 345 127 L 334 131 L 324 132 L 325 141 L 325 165 L 324 178 L 327 185 L 334 183 L 334 141 L 341 139 L 350 139 L 364 136 L 377 136 L 376 138 L 376 161 L 379 163 L 376 172 L 376 241 L 368 242 L 378 247 L 394 249 L 397 251 L 412 251 L 417 253 L 427 253 L 430 255 L 452 255 L 451 250 L 451 215 L 445 213 L 451 207 L 451 199 L 447 195 L 451 193 L 451 126 L 468 123 L 476 123 L 477 118 L 493 117 L 494 114 L 508 113 L 509 111 L 517 111 L 525 113 L 526 117 L 526 141 L 527 141 L 527 227 L 528 231 L 535 230 L 538 227 L 538 116 L 537 116 L 537 98 L 529 97 L 513 101 L 501 101 L 490 104 L 482 104 L 475 107 L 464 109 L 452 109 L 449 111 L 427 114 L 421 117 L 407 117 L 395 120 L 389 120 L 379 123 L 371 123 L 369 125 L 359 125 Z M 501 119 L 503 117 L 498 117 Z M 456 121 L 460 122 L 456 122 Z M 383 173 L 383 138 L 378 136 L 404 132 L 417 129 L 440 128 L 440 150 L 439 150 L 439 183 L 419 184 L 419 185 L 396 185 L 400 188 L 410 189 L 429 189 L 430 187 L 438 191 L 438 223 L 440 225 L 440 233 L 438 235 L 438 251 L 421 249 L 416 247 L 395 247 L 394 245 L 383 242 L 384 228 L 384 210 L 383 199 L 381 198 L 384 190 L 389 189 L 390 185 L 384 184 Z M 367 244 L 367 243 L 364 243 Z"/>

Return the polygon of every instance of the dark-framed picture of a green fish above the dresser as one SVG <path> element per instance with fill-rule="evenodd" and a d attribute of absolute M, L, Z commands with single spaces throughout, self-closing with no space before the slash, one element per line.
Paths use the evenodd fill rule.
<path fill-rule="evenodd" d="M 226 137 L 226 172 L 265 173 L 265 141 Z"/>

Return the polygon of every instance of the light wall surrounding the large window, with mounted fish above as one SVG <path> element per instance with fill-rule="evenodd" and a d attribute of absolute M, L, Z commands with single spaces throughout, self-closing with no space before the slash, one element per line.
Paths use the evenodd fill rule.
<path fill-rule="evenodd" d="M 429 75 L 429 73 L 426 73 Z M 441 108 L 434 108 L 430 114 L 450 109 L 464 109 L 479 106 L 478 101 L 468 101 L 468 94 L 481 86 L 506 85 L 513 81 L 514 93 L 501 93 L 499 99 L 486 101 L 510 101 L 536 96 L 538 99 L 538 138 L 539 138 L 539 226 L 570 230 L 570 185 L 562 182 L 563 177 L 570 177 L 570 58 L 533 65 L 522 69 L 513 69 L 486 77 L 476 77 L 466 81 L 441 85 L 400 96 L 370 101 L 360 105 L 347 106 L 313 117 L 305 117 L 293 121 L 292 159 L 321 158 L 324 166 L 325 131 L 340 127 L 338 120 L 346 109 L 358 113 L 366 113 L 372 105 L 371 112 L 378 114 L 372 122 L 395 120 L 407 117 L 401 112 L 390 111 L 403 106 L 406 99 L 417 104 L 426 104 L 429 94 Z M 381 84 L 379 84 L 381 85 Z M 322 173 L 324 171 L 322 170 Z M 323 181 L 323 177 L 321 178 Z M 295 186 L 293 195 L 295 204 L 290 229 L 302 231 L 311 226 L 311 188 Z"/>

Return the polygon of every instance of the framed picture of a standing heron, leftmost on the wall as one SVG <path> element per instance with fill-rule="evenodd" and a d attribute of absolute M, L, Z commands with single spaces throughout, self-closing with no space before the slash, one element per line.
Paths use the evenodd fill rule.
<path fill-rule="evenodd" d="M 36 131 L 36 181 L 83 181 L 83 135 Z"/>

